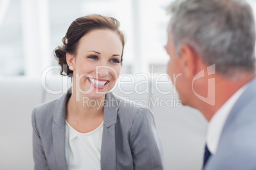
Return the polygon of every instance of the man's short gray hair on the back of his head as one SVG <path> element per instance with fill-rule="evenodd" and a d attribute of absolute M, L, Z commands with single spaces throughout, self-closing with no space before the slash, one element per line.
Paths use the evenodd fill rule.
<path fill-rule="evenodd" d="M 187 44 L 206 65 L 216 64 L 219 74 L 255 72 L 255 23 L 246 1 L 177 0 L 167 10 L 178 54 L 181 44 Z"/>

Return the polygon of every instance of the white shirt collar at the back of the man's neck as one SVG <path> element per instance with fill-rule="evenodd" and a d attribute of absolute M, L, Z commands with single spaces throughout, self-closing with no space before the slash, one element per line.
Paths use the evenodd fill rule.
<path fill-rule="evenodd" d="M 231 98 L 229 98 L 211 118 L 206 133 L 206 145 L 211 154 L 214 155 L 217 150 L 218 141 L 220 140 L 220 135 L 222 133 L 222 129 L 224 127 L 227 116 L 231 112 L 231 109 L 234 107 L 234 104 L 238 100 L 239 96 L 242 95 L 246 88 L 247 84 L 236 91 L 236 93 L 234 93 Z"/>

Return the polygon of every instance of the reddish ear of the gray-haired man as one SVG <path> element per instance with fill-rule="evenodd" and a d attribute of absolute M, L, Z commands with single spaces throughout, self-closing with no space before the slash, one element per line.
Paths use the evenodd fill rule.
<path fill-rule="evenodd" d="M 181 65 L 186 77 L 194 77 L 197 74 L 197 60 L 199 56 L 187 44 L 182 44 L 180 48 Z"/>

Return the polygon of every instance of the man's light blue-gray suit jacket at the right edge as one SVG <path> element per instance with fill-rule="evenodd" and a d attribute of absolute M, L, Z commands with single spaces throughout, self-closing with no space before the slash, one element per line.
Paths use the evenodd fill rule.
<path fill-rule="evenodd" d="M 232 108 L 205 169 L 256 169 L 256 78 Z"/>

